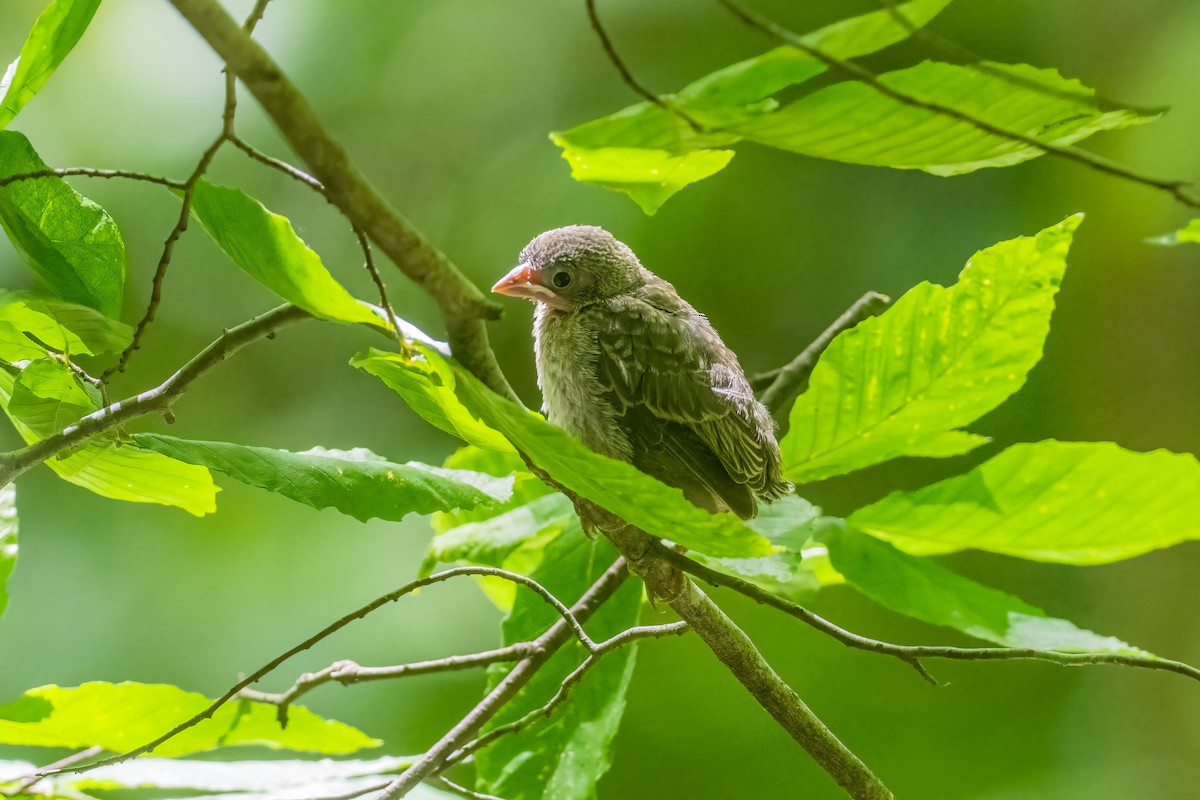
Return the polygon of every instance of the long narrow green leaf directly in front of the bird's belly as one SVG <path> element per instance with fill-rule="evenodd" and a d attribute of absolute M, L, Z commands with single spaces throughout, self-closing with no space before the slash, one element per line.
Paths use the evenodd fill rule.
<path fill-rule="evenodd" d="M 461 404 L 468 416 L 478 417 L 490 433 L 506 437 L 554 480 L 652 536 L 715 557 L 754 557 L 770 552 L 769 542 L 733 515 L 710 515 L 697 509 L 679 489 L 631 464 L 592 451 L 536 414 L 488 391 L 439 353 L 424 345 L 418 345 L 416 350 L 424 357 L 406 359 L 401 354 L 371 350 L 352 363 L 384 378 L 385 383 L 406 373 L 437 383 L 449 390 L 456 398 L 454 403 Z M 397 391 L 407 399 L 403 390 Z M 424 402 L 426 396 L 418 399 Z"/>

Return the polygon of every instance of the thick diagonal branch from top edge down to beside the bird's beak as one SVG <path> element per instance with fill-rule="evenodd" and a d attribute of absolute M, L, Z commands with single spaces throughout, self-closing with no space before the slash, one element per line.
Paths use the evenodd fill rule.
<path fill-rule="evenodd" d="M 499 307 L 367 182 L 282 70 L 216 0 L 170 2 L 254 95 L 312 175 L 324 185 L 330 201 L 433 297 L 455 357 L 492 391 L 515 398 L 484 326 L 485 320 L 499 315 Z"/>

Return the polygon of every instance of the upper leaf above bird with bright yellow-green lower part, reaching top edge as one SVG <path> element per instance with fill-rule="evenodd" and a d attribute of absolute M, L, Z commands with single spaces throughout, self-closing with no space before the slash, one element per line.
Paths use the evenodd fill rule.
<path fill-rule="evenodd" d="M 804 41 L 842 59 L 866 55 L 904 41 L 949 2 L 911 0 L 894 11 L 844 19 Z M 824 70 L 818 59 L 780 47 L 718 70 L 666 98 L 696 121 L 700 131 L 679 114 L 647 102 L 552 133 L 551 140 L 563 149 L 575 180 L 623 192 L 654 213 L 676 192 L 730 163 L 733 151 L 720 148 L 742 138 L 731 126 L 774 110 L 776 103 L 764 98 Z"/>

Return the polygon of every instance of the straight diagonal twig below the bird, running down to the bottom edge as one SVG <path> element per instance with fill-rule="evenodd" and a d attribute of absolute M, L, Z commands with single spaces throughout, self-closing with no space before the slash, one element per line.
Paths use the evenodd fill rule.
<path fill-rule="evenodd" d="M 583 593 L 583 596 L 571 606 L 576 619 L 587 620 L 620 584 L 629 577 L 625 559 L 617 559 L 604 575 Z M 450 730 L 432 747 L 425 751 L 398 778 L 392 781 L 378 800 L 396 800 L 412 792 L 422 781 L 439 775 L 445 768 L 446 758 L 462 747 L 488 720 L 504 708 L 517 692 L 528 684 L 546 661 L 570 638 L 565 620 L 559 620 L 548 631 L 534 639 L 534 654 L 522 658 L 509 670 L 509 674 L 475 704 Z"/>

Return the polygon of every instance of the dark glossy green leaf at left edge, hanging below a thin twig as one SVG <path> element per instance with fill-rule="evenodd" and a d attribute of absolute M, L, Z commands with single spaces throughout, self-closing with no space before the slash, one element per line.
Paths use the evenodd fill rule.
<path fill-rule="evenodd" d="M 0 178 L 47 169 L 29 139 L 0 131 Z M 0 187 L 0 225 L 50 291 L 118 317 L 125 289 L 125 242 L 108 213 L 61 178 Z"/>

